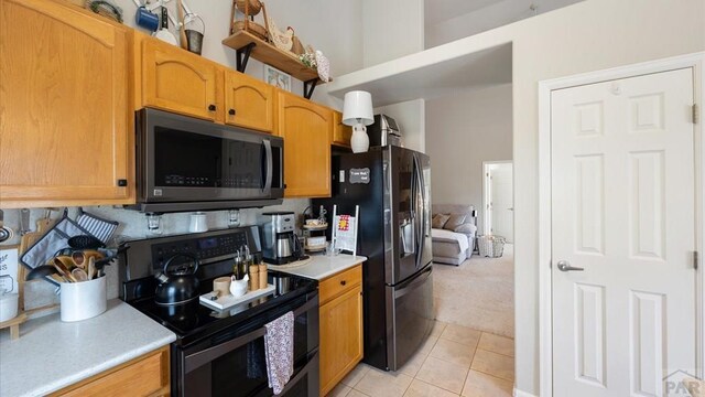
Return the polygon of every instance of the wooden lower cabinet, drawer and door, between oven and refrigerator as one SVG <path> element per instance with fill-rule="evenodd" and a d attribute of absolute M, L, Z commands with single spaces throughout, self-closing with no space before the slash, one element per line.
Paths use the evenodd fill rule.
<path fill-rule="evenodd" d="M 323 280 L 321 291 L 321 395 L 327 395 L 362 360 L 362 268 Z"/>

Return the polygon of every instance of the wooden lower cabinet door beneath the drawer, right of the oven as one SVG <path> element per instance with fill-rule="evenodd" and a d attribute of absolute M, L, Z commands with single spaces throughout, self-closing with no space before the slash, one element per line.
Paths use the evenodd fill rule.
<path fill-rule="evenodd" d="M 362 360 L 362 287 L 321 307 L 321 395 Z"/>

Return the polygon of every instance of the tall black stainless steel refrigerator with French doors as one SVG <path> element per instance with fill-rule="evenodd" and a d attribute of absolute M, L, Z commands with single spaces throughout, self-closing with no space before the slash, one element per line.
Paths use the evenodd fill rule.
<path fill-rule="evenodd" d="M 333 214 L 360 206 L 358 254 L 362 266 L 364 362 L 397 371 L 433 325 L 431 163 L 427 155 L 388 146 L 332 161 L 330 198 L 313 200 Z"/>

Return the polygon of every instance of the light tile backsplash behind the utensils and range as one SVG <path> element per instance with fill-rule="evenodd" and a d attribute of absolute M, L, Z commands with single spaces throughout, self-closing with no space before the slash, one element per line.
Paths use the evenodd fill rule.
<path fill-rule="evenodd" d="M 301 215 L 310 204 L 311 201 L 308 198 L 290 198 L 284 200 L 281 205 L 268 206 L 264 208 L 240 210 L 240 225 L 256 225 L 258 216 L 261 213 L 271 211 L 292 211 Z M 61 217 L 63 210 L 64 208 L 61 208 L 61 212 L 52 212 L 52 218 Z M 148 234 L 147 216 L 143 213 L 113 206 L 93 206 L 83 207 L 83 210 L 101 218 L 119 222 L 120 226 L 115 233 L 115 242 L 151 237 L 151 235 Z M 30 228 L 34 230 L 36 219 L 44 217 L 46 215 L 46 210 L 34 208 L 30 211 Z M 191 213 L 163 214 L 161 218 L 161 236 L 188 233 L 189 215 Z M 228 211 L 206 212 L 208 229 L 227 228 L 228 215 Z M 72 219 L 76 219 L 78 216 L 78 207 L 69 207 L 68 216 Z M 4 226 L 12 228 L 14 237 L 4 242 L 0 247 L 4 245 L 20 244 L 20 210 L 4 210 Z M 108 277 L 108 299 L 118 297 L 118 266 L 120 266 L 120 264 L 113 264 L 106 267 L 106 276 Z M 24 297 L 25 309 L 58 303 L 56 288 L 42 280 L 25 283 Z"/>

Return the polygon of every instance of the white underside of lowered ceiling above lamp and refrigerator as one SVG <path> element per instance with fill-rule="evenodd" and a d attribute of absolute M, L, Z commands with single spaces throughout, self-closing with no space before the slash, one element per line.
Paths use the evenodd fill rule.
<path fill-rule="evenodd" d="M 340 78 L 330 83 L 328 94 L 343 97 L 348 90 L 366 90 L 372 94 L 376 107 L 419 98 L 432 99 L 460 90 L 511 83 L 511 43 L 507 43 L 382 78 L 351 84 Z"/>

